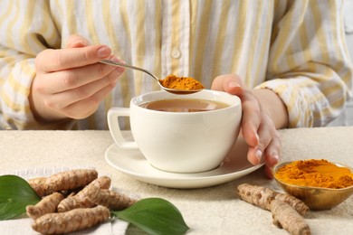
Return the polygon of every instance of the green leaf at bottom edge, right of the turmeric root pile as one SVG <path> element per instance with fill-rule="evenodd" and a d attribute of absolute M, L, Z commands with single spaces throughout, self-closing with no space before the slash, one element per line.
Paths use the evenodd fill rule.
<path fill-rule="evenodd" d="M 189 228 L 176 206 L 161 198 L 146 198 L 123 211 L 112 211 L 149 234 L 185 234 Z"/>

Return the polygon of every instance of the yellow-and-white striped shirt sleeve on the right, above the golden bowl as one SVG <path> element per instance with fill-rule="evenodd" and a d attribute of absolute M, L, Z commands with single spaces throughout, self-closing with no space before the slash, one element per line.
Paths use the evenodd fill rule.
<path fill-rule="evenodd" d="M 293 1 L 273 25 L 267 81 L 287 107 L 289 127 L 320 127 L 352 97 L 352 64 L 340 1 Z"/>

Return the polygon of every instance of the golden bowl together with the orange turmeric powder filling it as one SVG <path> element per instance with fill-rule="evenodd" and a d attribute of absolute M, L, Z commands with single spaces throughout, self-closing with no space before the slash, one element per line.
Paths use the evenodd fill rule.
<path fill-rule="evenodd" d="M 329 210 L 353 194 L 353 168 L 328 160 L 282 162 L 272 167 L 281 188 L 311 210 Z"/>

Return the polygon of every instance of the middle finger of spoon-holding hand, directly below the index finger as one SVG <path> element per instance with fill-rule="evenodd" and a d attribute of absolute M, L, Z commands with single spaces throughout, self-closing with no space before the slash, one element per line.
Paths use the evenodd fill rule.
<path fill-rule="evenodd" d="M 112 61 L 119 60 L 114 58 Z M 112 71 L 117 71 L 117 73 L 114 74 L 119 77 L 124 69 L 103 63 L 95 63 L 71 70 L 52 72 L 50 80 L 52 84 L 51 86 L 45 86 L 45 88 L 43 88 L 43 92 L 58 93 L 67 89 L 79 88 L 95 80 L 100 80 L 108 76 Z"/>

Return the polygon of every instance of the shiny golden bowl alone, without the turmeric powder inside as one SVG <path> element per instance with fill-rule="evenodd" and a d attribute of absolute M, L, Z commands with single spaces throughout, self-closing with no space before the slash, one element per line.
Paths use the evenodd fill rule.
<path fill-rule="evenodd" d="M 311 210 L 329 210 L 332 207 L 339 205 L 339 203 L 344 202 L 353 194 L 353 186 L 341 189 L 330 189 L 283 183 L 276 178 L 275 173 L 281 168 L 281 166 L 286 164 L 291 164 L 291 162 L 283 162 L 272 167 L 274 179 L 286 193 L 301 199 L 301 201 L 305 202 Z M 334 164 L 340 167 L 347 167 L 353 172 L 353 169 L 347 165 L 339 163 Z"/>

